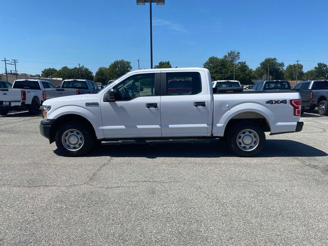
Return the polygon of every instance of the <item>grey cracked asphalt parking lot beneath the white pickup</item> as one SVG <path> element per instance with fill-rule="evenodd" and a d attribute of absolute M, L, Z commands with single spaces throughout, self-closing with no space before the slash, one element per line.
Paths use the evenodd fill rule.
<path fill-rule="evenodd" d="M 40 117 L 0 117 L 0 245 L 327 245 L 328 117 L 255 158 L 212 144 L 68 158 Z"/>

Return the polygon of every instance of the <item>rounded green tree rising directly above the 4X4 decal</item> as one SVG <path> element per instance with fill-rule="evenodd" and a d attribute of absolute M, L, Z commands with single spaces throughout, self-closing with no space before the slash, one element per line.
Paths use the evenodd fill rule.
<path fill-rule="evenodd" d="M 268 78 L 268 65 L 269 65 L 269 78 Z M 260 66 L 254 70 L 254 77 L 257 79 L 283 79 L 284 77 L 284 64 L 279 63 L 277 58 L 265 58 Z"/>

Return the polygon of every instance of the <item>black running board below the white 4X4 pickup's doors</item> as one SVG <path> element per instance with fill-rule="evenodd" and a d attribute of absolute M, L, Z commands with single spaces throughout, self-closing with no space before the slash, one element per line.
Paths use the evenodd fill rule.
<path fill-rule="evenodd" d="M 176 139 L 126 139 L 126 140 L 104 140 L 101 145 L 131 145 L 131 144 L 169 144 L 169 143 L 192 143 L 210 142 L 211 138 L 176 138 Z"/>

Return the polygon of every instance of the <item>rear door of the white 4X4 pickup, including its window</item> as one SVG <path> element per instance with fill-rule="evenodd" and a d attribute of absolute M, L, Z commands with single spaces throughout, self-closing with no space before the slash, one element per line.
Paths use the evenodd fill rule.
<path fill-rule="evenodd" d="M 202 81 L 207 81 L 203 71 L 161 73 L 162 137 L 211 134 L 210 85 Z"/>

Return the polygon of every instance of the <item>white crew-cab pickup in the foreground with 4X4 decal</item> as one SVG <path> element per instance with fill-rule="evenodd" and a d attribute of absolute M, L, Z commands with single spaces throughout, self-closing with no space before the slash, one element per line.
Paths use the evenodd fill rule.
<path fill-rule="evenodd" d="M 239 156 L 254 156 L 264 132 L 302 130 L 298 92 L 218 88 L 203 68 L 129 72 L 97 94 L 47 100 L 40 133 L 67 156 L 103 145 L 196 142 L 223 138 Z M 240 91 L 240 90 L 238 90 Z"/>

